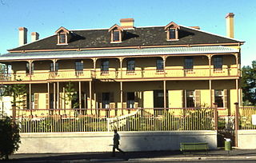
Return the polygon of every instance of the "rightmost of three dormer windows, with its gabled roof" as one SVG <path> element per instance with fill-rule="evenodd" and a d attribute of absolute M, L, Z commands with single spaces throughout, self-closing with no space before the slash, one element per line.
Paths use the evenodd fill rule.
<path fill-rule="evenodd" d="M 178 26 L 175 22 L 170 22 L 167 26 L 165 26 L 165 30 L 167 41 L 178 41 L 178 30 L 180 30 L 180 26 Z"/>

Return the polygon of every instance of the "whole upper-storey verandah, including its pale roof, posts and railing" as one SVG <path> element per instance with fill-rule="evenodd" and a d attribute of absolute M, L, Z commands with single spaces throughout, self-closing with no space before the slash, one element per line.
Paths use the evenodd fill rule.
<path fill-rule="evenodd" d="M 0 81 L 239 78 L 238 53 L 235 48 L 209 46 L 6 54 L 0 62 L 10 66 Z"/>

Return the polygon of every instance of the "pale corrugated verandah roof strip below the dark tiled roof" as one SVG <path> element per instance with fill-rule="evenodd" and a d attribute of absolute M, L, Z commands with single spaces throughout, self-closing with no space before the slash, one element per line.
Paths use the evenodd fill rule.
<path fill-rule="evenodd" d="M 196 47 L 167 47 L 119 50 L 82 50 L 82 51 L 50 51 L 9 53 L 0 55 L 0 61 L 54 59 L 54 58 L 98 58 L 145 55 L 174 55 L 174 54 L 228 54 L 238 53 L 239 50 L 226 46 L 196 46 Z"/>

